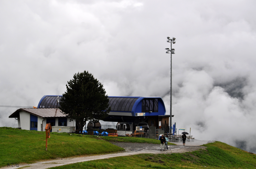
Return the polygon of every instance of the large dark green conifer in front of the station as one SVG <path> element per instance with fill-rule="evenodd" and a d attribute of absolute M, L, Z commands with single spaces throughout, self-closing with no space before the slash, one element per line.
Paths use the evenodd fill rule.
<path fill-rule="evenodd" d="M 67 91 L 60 100 L 60 109 L 76 120 L 78 132 L 82 132 L 86 121 L 99 121 L 108 116 L 111 110 L 108 95 L 91 73 L 84 71 L 74 74 L 66 87 Z"/>

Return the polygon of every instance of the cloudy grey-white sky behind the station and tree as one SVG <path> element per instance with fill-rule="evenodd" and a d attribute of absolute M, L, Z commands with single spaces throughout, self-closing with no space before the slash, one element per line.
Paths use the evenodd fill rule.
<path fill-rule="evenodd" d="M 160 96 L 201 140 L 256 153 L 255 1 L 0 1 L 0 105 L 37 106 L 84 70 L 109 96 Z M 17 127 L 0 107 L 0 126 Z"/>

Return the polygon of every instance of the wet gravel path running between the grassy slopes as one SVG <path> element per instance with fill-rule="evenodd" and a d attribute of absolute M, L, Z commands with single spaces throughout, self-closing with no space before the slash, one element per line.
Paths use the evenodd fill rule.
<path fill-rule="evenodd" d="M 199 141 L 199 140 L 198 140 Z M 206 141 L 207 143 L 207 141 Z M 134 154 L 141 154 L 141 153 L 183 153 L 188 151 L 195 151 L 198 149 L 205 149 L 204 146 L 193 145 L 193 146 L 183 146 L 183 145 L 169 145 L 168 150 L 160 151 L 160 144 L 147 144 L 147 143 L 124 143 L 124 142 L 112 142 L 112 144 L 123 147 L 125 152 L 120 153 L 112 153 L 112 154 L 105 154 L 105 155 L 95 155 L 95 156 L 84 156 L 84 157 L 75 157 L 75 158 L 64 158 L 58 160 L 47 160 L 47 161 L 40 161 L 33 164 L 23 164 L 19 165 L 19 167 L 15 168 L 26 168 L 26 169 L 45 169 L 50 167 L 56 167 L 66 164 L 78 163 L 83 161 L 90 161 L 90 160 L 99 160 L 99 159 L 106 159 L 111 157 L 119 157 L 119 156 L 128 156 Z M 201 144 L 201 142 L 200 142 Z M 202 144 L 201 144 L 202 145 Z M 2 167 L 2 168 L 7 168 Z M 2 169 L 0 168 L 0 169 Z"/>

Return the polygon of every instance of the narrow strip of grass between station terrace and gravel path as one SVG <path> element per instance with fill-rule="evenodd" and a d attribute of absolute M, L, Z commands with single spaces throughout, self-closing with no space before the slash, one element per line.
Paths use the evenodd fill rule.
<path fill-rule="evenodd" d="M 107 141 L 160 144 L 159 140 L 149 139 L 149 138 L 140 138 L 140 137 L 111 137 L 111 136 L 104 137 L 102 136 L 101 138 Z M 176 144 L 168 142 L 168 145 L 176 145 Z"/>

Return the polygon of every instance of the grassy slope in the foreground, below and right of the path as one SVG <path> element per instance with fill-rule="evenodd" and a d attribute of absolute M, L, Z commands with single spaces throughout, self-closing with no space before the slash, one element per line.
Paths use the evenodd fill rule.
<path fill-rule="evenodd" d="M 207 145 L 206 150 L 173 154 L 138 154 L 133 156 L 115 157 L 93 160 L 52 169 L 70 168 L 256 168 L 256 155 L 241 149 L 216 142 Z"/>

